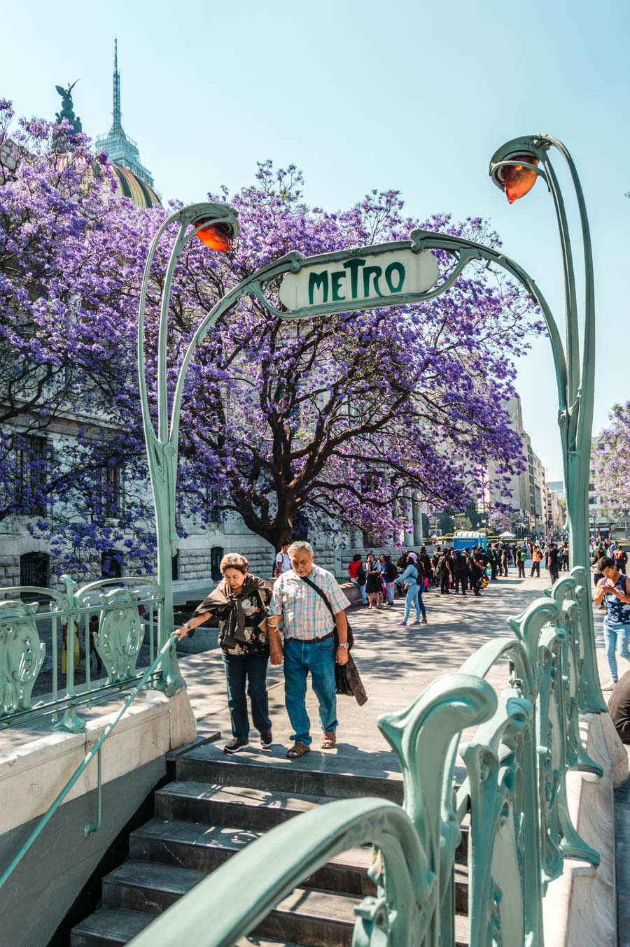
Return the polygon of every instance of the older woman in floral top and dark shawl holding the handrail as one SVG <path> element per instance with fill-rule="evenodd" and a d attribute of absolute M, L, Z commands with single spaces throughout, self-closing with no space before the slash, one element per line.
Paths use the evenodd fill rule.
<path fill-rule="evenodd" d="M 221 560 L 223 579 L 199 605 L 185 625 L 173 634 L 178 640 L 192 634 L 209 616 L 219 619 L 219 645 L 223 651 L 227 706 L 232 722 L 232 740 L 225 753 L 238 753 L 249 745 L 249 718 L 245 686 L 252 706 L 254 726 L 261 734 L 261 749 L 271 746 L 271 721 L 267 698 L 267 605 L 271 599 L 269 582 L 248 573 L 247 560 L 236 552 Z M 276 635 L 272 651 L 278 650 Z M 280 652 L 281 653 L 281 652 Z"/>

